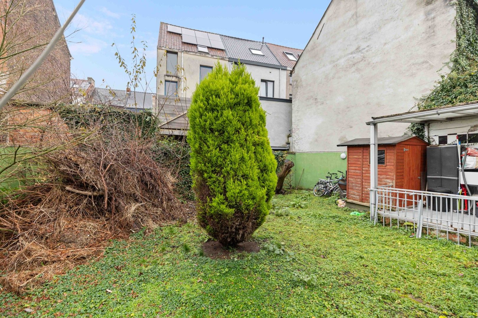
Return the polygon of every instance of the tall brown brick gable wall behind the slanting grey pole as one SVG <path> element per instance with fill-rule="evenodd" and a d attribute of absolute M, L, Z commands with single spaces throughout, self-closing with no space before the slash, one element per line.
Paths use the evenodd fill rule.
<path fill-rule="evenodd" d="M 9 12 L 7 34 L 3 56 L 22 52 L 2 60 L 0 75 L 0 92 L 8 90 L 18 80 L 22 72 L 30 67 L 44 50 L 54 33 L 60 28 L 52 0 L 1 0 L 0 14 Z M 15 21 L 15 22 L 14 22 Z M 68 102 L 70 97 L 70 52 L 65 39 L 61 39 L 40 68 L 33 74 L 16 100 L 25 103 L 48 104 Z"/>

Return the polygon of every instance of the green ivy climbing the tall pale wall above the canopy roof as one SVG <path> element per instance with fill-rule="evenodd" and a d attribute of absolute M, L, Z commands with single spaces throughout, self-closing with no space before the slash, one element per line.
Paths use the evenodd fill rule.
<path fill-rule="evenodd" d="M 475 0 L 456 0 L 456 49 L 445 64 L 447 75 L 440 75 L 434 89 L 416 106 L 419 110 L 469 103 L 478 100 L 478 33 Z M 410 130 L 424 139 L 424 125 L 413 123 Z"/>

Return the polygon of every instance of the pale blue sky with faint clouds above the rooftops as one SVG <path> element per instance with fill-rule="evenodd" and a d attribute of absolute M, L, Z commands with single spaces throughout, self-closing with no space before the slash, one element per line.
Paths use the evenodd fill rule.
<path fill-rule="evenodd" d="M 54 0 L 60 21 L 65 21 L 78 0 Z M 97 87 L 107 83 L 125 89 L 128 76 L 115 60 L 118 45 L 130 57 L 131 14 L 136 14 L 136 40 L 147 41 L 148 79 L 156 64 L 156 45 L 161 21 L 202 31 L 265 41 L 303 49 L 330 0 L 315 1 L 163 1 L 86 0 L 72 26 L 68 47 L 74 60 L 72 76 L 93 77 Z M 293 8 L 295 6 L 295 8 Z M 138 45 L 137 45 L 138 46 Z M 103 82 L 105 80 L 105 82 Z M 152 86 L 154 89 L 154 85 Z"/>

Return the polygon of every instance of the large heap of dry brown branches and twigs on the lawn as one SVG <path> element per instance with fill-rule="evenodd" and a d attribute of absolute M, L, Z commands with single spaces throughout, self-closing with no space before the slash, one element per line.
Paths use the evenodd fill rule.
<path fill-rule="evenodd" d="M 0 201 L 3 288 L 21 291 L 98 256 L 109 238 L 185 220 L 151 143 L 97 130 L 44 154 L 35 170 L 40 182 Z"/>

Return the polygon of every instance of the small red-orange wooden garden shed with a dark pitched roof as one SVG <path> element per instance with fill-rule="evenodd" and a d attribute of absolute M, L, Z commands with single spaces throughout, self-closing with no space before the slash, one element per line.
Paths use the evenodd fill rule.
<path fill-rule="evenodd" d="M 337 146 L 347 146 L 347 201 L 368 205 L 370 138 L 357 138 Z M 378 185 L 425 190 L 427 146 L 415 136 L 378 138 Z"/>

